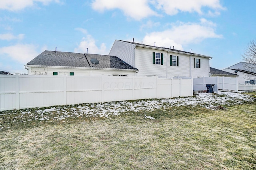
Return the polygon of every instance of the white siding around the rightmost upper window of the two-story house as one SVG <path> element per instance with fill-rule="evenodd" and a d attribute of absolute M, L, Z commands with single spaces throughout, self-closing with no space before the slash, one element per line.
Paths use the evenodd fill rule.
<path fill-rule="evenodd" d="M 194 68 L 194 58 L 201 59 L 201 64 L 200 64 L 201 68 Z M 209 72 L 210 72 L 209 58 L 192 56 L 190 66 L 191 66 L 191 76 L 193 78 L 209 77 Z"/>

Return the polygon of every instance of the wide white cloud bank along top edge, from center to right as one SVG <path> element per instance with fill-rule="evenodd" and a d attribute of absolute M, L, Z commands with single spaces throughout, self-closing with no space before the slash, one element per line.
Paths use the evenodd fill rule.
<path fill-rule="evenodd" d="M 154 10 L 150 7 L 154 6 Z M 197 12 L 203 14 L 202 8 L 207 7 L 209 16 L 219 15 L 224 10 L 220 0 L 93 0 L 92 8 L 96 11 L 120 9 L 125 16 L 140 20 L 148 16 L 160 16 L 162 11 L 168 15 L 178 12 Z M 157 13 L 158 12 L 158 13 Z"/>

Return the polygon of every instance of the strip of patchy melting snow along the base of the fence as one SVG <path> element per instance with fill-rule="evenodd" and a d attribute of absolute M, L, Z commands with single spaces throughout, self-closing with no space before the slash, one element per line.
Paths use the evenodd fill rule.
<path fill-rule="evenodd" d="M 41 121 L 63 121 L 69 117 L 105 117 L 118 116 L 125 112 L 137 111 L 152 111 L 154 109 L 163 109 L 169 107 L 179 106 L 203 106 L 210 108 L 212 106 L 234 105 L 242 104 L 245 101 L 253 101 L 254 98 L 246 94 L 235 92 L 219 92 L 219 94 L 199 93 L 196 97 L 180 97 L 180 98 L 166 98 L 166 99 L 149 99 L 149 100 L 135 100 L 135 101 L 121 101 L 121 102 L 107 102 L 107 103 L 93 103 L 93 104 L 76 104 L 72 106 L 55 106 L 52 108 L 42 109 L 38 108 L 31 112 L 32 109 L 22 110 L 22 114 L 17 114 L 17 110 L 11 110 L 9 113 L 0 112 L 0 122 L 3 118 L 1 115 L 17 114 L 12 118 L 12 122 L 26 122 L 33 120 Z M 33 109 L 34 110 L 34 109 Z M 151 116 L 146 116 L 153 120 Z M 22 121 L 21 121 L 22 119 Z M 4 127 L 1 127 L 0 130 Z"/>

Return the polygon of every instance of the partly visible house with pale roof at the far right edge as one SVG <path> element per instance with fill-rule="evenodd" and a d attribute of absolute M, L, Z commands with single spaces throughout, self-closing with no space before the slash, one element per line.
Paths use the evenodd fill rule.
<path fill-rule="evenodd" d="M 255 68 L 255 69 L 252 69 Z M 237 71 L 238 84 L 245 84 L 245 82 L 250 81 L 251 79 L 256 79 L 256 64 L 247 63 L 247 62 L 239 62 L 225 68 L 223 71 L 235 73 Z"/>

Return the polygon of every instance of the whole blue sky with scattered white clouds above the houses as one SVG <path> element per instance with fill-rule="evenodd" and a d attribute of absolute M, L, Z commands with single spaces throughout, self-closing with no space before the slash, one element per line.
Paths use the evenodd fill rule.
<path fill-rule="evenodd" d="M 0 70 L 44 50 L 108 54 L 127 40 L 211 56 L 224 69 L 256 38 L 255 0 L 0 0 Z"/>

